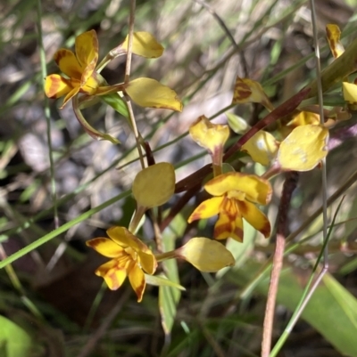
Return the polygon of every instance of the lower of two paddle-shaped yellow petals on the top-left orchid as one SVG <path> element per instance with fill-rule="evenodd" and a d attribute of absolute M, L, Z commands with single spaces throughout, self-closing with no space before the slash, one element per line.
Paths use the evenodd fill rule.
<path fill-rule="evenodd" d="M 178 94 L 152 78 L 137 78 L 125 88 L 129 97 L 141 107 L 182 111 Z"/>

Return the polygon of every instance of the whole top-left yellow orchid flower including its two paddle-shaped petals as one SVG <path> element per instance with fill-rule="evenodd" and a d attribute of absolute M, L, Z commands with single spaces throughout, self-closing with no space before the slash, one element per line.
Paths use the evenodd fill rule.
<path fill-rule="evenodd" d="M 133 53 L 146 57 L 161 55 L 163 48 L 158 47 L 159 44 L 150 34 L 139 32 L 134 35 Z M 145 44 L 139 40 L 145 40 L 148 43 Z M 124 47 L 126 42 L 128 41 L 125 40 L 123 43 Z M 126 53 L 124 47 L 120 46 L 121 54 Z M 111 58 L 115 58 L 115 56 Z M 103 69 L 104 64 L 108 61 L 104 59 L 104 64 L 102 61 L 97 65 L 98 38 L 93 29 L 76 37 L 75 53 L 61 48 L 54 53 L 54 61 L 67 77 L 47 76 L 45 93 L 49 98 L 60 98 L 65 95 L 61 108 L 78 93 L 104 95 L 125 92 L 142 107 L 182 110 L 182 103 L 179 101 L 177 93 L 152 78 L 137 78 L 129 81 L 127 85 L 124 83 L 107 85 L 104 77 L 98 71 Z"/>

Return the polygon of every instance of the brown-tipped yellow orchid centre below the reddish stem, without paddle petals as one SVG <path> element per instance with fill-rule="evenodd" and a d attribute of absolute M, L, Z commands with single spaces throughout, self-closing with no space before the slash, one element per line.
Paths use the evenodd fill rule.
<path fill-rule="evenodd" d="M 214 226 L 214 238 L 231 237 L 243 241 L 243 218 L 268 238 L 270 222 L 254 203 L 266 205 L 270 201 L 270 183 L 254 174 L 220 174 L 204 185 L 204 190 L 214 196 L 203 201 L 188 217 L 188 223 L 197 219 L 220 215 Z"/>

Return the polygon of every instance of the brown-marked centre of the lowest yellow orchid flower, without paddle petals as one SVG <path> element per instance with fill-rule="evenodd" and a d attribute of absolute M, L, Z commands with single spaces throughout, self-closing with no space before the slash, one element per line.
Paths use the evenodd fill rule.
<path fill-rule="evenodd" d="M 137 294 L 140 303 L 145 291 L 145 273 L 154 274 L 157 266 L 153 252 L 124 227 L 112 227 L 106 231 L 109 238 L 87 240 L 88 247 L 103 256 L 112 258 L 99 266 L 95 274 L 104 278 L 108 288 L 120 288 L 126 277 Z M 144 272 L 143 272 L 144 271 Z"/>

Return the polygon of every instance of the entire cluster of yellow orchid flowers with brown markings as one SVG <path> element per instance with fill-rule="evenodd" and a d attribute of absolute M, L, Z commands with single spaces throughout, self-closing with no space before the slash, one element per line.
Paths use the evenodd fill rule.
<path fill-rule="evenodd" d="M 336 32 L 336 28 L 329 28 L 329 33 L 335 37 Z M 338 56 L 343 50 L 336 44 L 338 39 L 330 41 L 331 48 L 336 50 L 334 55 L 336 53 L 335 56 Z M 121 108 L 121 114 L 127 113 L 124 100 L 126 98 L 143 107 L 182 110 L 182 102 L 177 93 L 154 79 L 141 77 L 108 85 L 100 74 L 110 61 L 126 55 L 129 51 L 145 58 L 161 56 L 163 47 L 152 35 L 146 32 L 134 33 L 130 48 L 127 37 L 122 44 L 108 53 L 103 61 L 99 61 L 98 48 L 94 30 L 79 35 L 75 41 L 75 53 L 60 49 L 54 54 L 54 61 L 63 75 L 53 74 L 46 77 L 46 95 L 49 98 L 64 97 L 61 108 L 72 101 L 73 110 L 87 134 L 97 140 L 119 143 L 111 135 L 89 126 L 83 118 L 80 110 L 97 101 L 104 101 L 116 110 Z M 345 100 L 349 103 L 357 101 L 355 86 L 344 82 Z M 249 102 L 261 103 L 271 113 L 275 110 L 262 85 L 249 78 L 237 77 L 232 103 Z M 299 102 L 295 103 L 295 108 Z M 155 212 L 162 210 L 162 206 L 179 192 L 175 169 L 170 163 L 144 165 L 132 185 L 137 208 L 129 227 L 112 227 L 107 230 L 109 238 L 98 237 L 87 241 L 88 247 L 110 259 L 98 267 L 95 274 L 104 278 L 108 288 L 112 290 L 120 288 L 128 277 L 137 294 L 137 301 L 140 302 L 146 283 L 167 285 L 162 278 L 155 278 L 154 275 L 164 260 L 183 259 L 202 272 L 217 272 L 235 264 L 234 257 L 224 243 L 225 239 L 243 242 L 244 220 L 261 232 L 263 237 L 269 238 L 270 221 L 262 211 L 262 206 L 270 203 L 270 178 L 285 171 L 311 170 L 319 166 L 320 161 L 328 154 L 328 127 L 324 122 L 320 122 L 320 117 L 313 110 L 295 110 L 294 115 L 291 115 L 292 112 L 293 110 L 286 110 L 282 113 L 280 118 L 289 115 L 289 121 L 284 125 L 280 123 L 274 133 L 263 131 L 264 126 L 237 129 L 237 117 L 231 114 L 228 115 L 228 125 L 213 124 L 205 116 L 197 118 L 189 127 L 189 134 L 212 158 L 212 178 L 208 179 L 208 173 L 203 184 L 204 191 L 211 197 L 198 203 L 187 216 L 187 223 L 217 216 L 212 238 L 194 237 L 188 239 L 183 246 L 170 251 L 162 251 L 158 244 L 153 244 L 154 241 L 150 241 L 150 244 L 144 243 L 137 231 L 145 213 L 151 210 L 152 215 L 155 215 Z M 268 124 L 270 123 L 267 122 L 266 125 Z M 243 134 L 235 144 L 240 155 L 248 156 L 253 162 L 268 167 L 262 176 L 244 169 L 237 170 L 233 166 L 230 166 L 229 170 L 225 169 L 224 162 L 231 150 L 226 151 L 225 146 L 232 131 Z M 138 142 L 138 145 L 142 143 Z M 150 150 L 147 151 L 147 146 L 144 150 L 151 153 Z M 198 177 L 198 181 L 195 177 Z M 203 178 L 194 174 L 192 181 L 195 183 L 190 188 L 202 183 Z M 173 218 L 170 212 L 168 217 Z M 157 243 L 158 238 L 155 240 Z"/>

